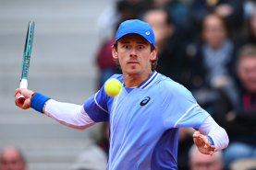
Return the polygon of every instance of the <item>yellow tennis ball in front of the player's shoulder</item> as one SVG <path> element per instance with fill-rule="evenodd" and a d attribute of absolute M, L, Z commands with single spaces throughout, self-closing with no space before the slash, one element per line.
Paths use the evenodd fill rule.
<path fill-rule="evenodd" d="M 116 78 L 107 80 L 104 84 L 104 91 L 108 96 L 116 96 L 121 90 L 121 82 Z"/>

